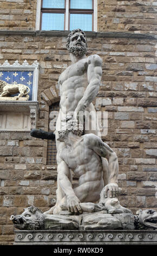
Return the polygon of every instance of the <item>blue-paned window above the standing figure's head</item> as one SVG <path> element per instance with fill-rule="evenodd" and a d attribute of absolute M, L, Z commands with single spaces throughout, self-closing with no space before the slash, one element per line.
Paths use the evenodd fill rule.
<path fill-rule="evenodd" d="M 41 0 L 41 30 L 96 31 L 97 0 Z M 96 17 L 97 20 L 97 17 Z"/>

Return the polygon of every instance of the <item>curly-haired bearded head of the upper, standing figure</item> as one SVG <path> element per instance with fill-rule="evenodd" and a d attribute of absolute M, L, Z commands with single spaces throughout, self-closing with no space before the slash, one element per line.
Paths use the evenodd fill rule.
<path fill-rule="evenodd" d="M 77 57 L 82 57 L 87 52 L 86 34 L 80 29 L 74 29 L 67 36 L 67 50 Z"/>

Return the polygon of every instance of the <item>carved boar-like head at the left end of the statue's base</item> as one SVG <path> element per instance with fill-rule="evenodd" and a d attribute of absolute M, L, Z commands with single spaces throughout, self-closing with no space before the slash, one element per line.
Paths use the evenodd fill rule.
<path fill-rule="evenodd" d="M 35 206 L 24 209 L 21 215 L 11 215 L 10 220 L 14 223 L 14 227 L 25 230 L 44 229 L 43 212 Z"/>

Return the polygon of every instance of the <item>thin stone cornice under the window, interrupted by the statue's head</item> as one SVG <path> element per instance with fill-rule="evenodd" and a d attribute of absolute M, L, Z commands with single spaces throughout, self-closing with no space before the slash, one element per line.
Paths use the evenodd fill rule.
<path fill-rule="evenodd" d="M 0 36 L 15 36 L 15 35 L 31 35 L 31 36 L 67 36 L 70 31 L 3 31 L 0 30 Z M 130 32 L 86 32 L 88 38 L 124 38 L 124 39 L 147 39 L 157 40 L 155 34 L 142 34 L 142 33 L 130 33 Z"/>

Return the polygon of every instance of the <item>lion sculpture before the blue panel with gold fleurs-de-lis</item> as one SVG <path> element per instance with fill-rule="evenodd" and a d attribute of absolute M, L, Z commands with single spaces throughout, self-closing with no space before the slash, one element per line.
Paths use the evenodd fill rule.
<path fill-rule="evenodd" d="M 10 84 L 10 83 L 6 83 L 3 80 L 0 80 L 0 92 L 1 92 L 0 97 L 6 97 L 9 95 L 18 93 L 18 96 L 14 97 L 15 100 L 18 100 L 19 97 L 22 97 L 25 95 L 27 95 L 27 100 L 28 100 L 29 99 L 28 94 L 30 92 L 30 88 L 28 86 L 25 86 L 22 83 Z"/>

